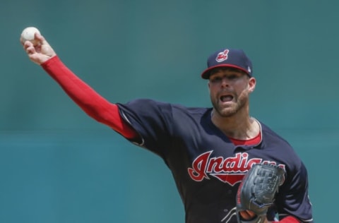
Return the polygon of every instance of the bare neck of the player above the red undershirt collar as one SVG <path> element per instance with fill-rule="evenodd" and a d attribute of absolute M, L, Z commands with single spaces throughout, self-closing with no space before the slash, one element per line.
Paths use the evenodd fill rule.
<path fill-rule="evenodd" d="M 248 113 L 234 114 L 225 117 L 220 116 L 220 114 L 213 109 L 211 119 L 215 126 L 230 138 L 249 140 L 256 137 L 260 132 L 258 121 L 251 118 Z"/>

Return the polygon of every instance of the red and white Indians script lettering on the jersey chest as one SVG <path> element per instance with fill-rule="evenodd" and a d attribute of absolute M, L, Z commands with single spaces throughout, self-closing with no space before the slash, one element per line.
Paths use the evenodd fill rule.
<path fill-rule="evenodd" d="M 192 162 L 192 167 L 188 168 L 189 176 L 194 181 L 203 181 L 213 176 L 224 183 L 234 186 L 241 182 L 246 172 L 256 163 L 275 164 L 275 162 L 263 160 L 261 158 L 249 159 L 247 152 L 239 152 L 234 157 L 211 157 L 213 150 L 205 152 Z M 280 164 L 285 169 L 285 165 Z"/>

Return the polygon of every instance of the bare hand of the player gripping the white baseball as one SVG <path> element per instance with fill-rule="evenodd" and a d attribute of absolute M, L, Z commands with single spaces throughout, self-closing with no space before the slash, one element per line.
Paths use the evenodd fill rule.
<path fill-rule="evenodd" d="M 23 34 L 27 34 L 27 32 L 23 32 Z M 30 40 L 23 36 L 23 34 L 20 37 L 20 42 L 23 44 L 23 49 L 25 49 L 30 60 L 35 64 L 43 64 L 45 61 L 57 55 L 40 32 L 35 30 Z"/>

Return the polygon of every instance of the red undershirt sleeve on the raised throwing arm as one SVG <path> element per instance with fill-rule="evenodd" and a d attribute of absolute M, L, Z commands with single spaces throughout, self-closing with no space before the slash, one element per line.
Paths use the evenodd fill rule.
<path fill-rule="evenodd" d="M 41 66 L 88 116 L 113 128 L 126 138 L 138 137 L 138 133 L 121 118 L 117 104 L 108 102 L 90 88 L 67 68 L 58 56 L 52 57 Z"/>

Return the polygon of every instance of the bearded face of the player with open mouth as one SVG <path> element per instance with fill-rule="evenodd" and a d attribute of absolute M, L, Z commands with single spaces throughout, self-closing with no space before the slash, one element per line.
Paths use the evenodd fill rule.
<path fill-rule="evenodd" d="M 234 68 L 218 68 L 212 71 L 208 81 L 213 108 L 222 117 L 237 114 L 249 106 L 249 93 L 256 80 Z"/>

